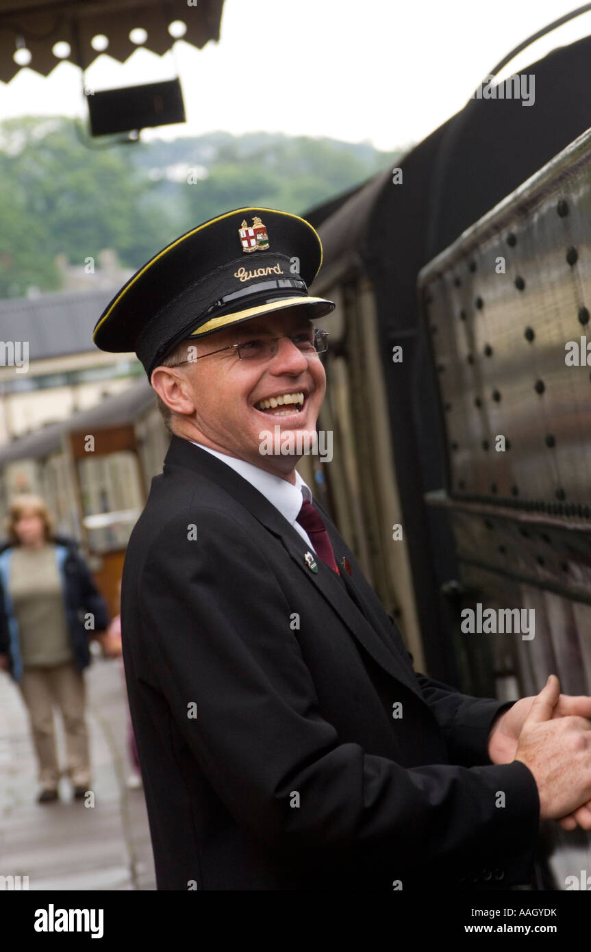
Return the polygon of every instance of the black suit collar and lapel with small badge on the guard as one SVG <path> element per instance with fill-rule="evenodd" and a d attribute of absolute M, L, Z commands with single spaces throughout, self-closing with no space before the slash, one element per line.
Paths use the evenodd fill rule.
<path fill-rule="evenodd" d="M 207 453 L 188 440 L 173 436 L 165 459 L 165 475 L 171 467 L 182 466 L 192 469 L 211 480 L 215 486 L 225 489 L 237 502 L 258 520 L 267 531 L 279 538 L 285 546 L 293 563 L 302 573 L 305 584 L 314 585 L 325 597 L 341 621 L 377 664 L 388 674 L 405 684 L 424 701 L 416 682 L 414 672 L 405 659 L 402 659 L 392 643 L 386 639 L 383 627 L 375 618 L 375 613 L 367 604 L 364 596 L 351 580 L 342 575 L 343 584 L 325 563 L 316 557 L 318 572 L 307 565 L 305 556 L 310 550 L 304 539 L 290 526 L 279 509 L 272 506 L 266 497 L 251 483 L 240 476 L 231 466 L 227 466 L 217 457 Z M 333 545 L 337 564 L 341 564 L 344 543 L 336 528 L 328 522 L 326 526 Z M 348 552 L 348 550 L 347 550 Z M 311 553 L 313 555 L 313 553 Z M 309 561 L 309 560 L 308 560 Z"/>

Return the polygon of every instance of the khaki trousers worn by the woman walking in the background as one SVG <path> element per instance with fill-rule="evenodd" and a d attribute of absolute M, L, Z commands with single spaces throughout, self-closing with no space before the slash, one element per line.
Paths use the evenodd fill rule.
<path fill-rule="evenodd" d="M 53 704 L 60 708 L 66 736 L 67 773 L 74 786 L 89 787 L 89 735 L 85 722 L 84 674 L 72 662 L 25 668 L 19 684 L 29 711 L 37 754 L 39 782 L 55 789 L 60 779 L 53 724 Z"/>

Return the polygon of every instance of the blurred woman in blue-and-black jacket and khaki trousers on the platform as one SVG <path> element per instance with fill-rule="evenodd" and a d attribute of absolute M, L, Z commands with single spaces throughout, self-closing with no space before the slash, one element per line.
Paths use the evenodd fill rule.
<path fill-rule="evenodd" d="M 9 541 L 0 547 L 0 667 L 18 684 L 37 755 L 39 803 L 58 798 L 53 705 L 64 723 L 74 798 L 91 783 L 84 668 L 89 638 L 103 640 L 107 605 L 74 540 L 53 534 L 40 496 L 10 503 Z"/>

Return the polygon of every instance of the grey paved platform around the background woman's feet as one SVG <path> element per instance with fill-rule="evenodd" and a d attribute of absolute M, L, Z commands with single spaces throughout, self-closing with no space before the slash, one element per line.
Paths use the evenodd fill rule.
<path fill-rule="evenodd" d="M 94 806 L 72 801 L 65 779 L 59 802 L 39 804 L 26 709 L 0 672 L 0 876 L 28 876 L 30 890 L 155 889 L 144 793 L 126 785 L 131 765 L 120 662 L 95 658 L 87 685 Z M 61 724 L 58 736 L 63 753 Z"/>

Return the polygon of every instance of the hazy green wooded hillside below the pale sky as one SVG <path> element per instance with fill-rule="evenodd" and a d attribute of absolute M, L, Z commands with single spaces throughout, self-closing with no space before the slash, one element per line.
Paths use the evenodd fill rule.
<path fill-rule="evenodd" d="M 268 132 L 89 148 L 69 118 L 7 120 L 0 125 L 0 296 L 58 288 L 58 253 L 81 265 L 112 248 L 124 266 L 139 268 L 221 210 L 302 213 L 393 158 L 367 143 Z"/>

